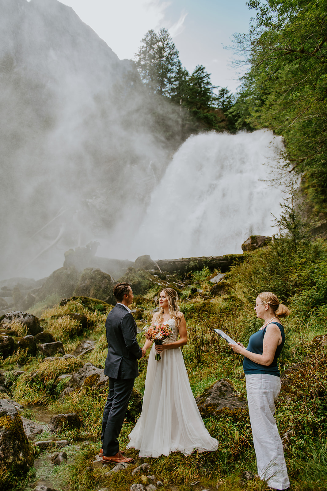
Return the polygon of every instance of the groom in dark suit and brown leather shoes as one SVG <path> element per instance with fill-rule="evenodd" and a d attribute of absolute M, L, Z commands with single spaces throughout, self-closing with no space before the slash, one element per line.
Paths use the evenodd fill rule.
<path fill-rule="evenodd" d="M 117 303 L 105 321 L 108 355 L 104 375 L 109 377 L 109 392 L 102 416 L 102 463 L 133 462 L 119 451 L 118 436 L 123 426 L 134 379 L 138 376 L 137 360 L 144 356 L 136 340 L 137 327 L 128 305 L 133 292 L 128 283 L 118 283 L 113 294 Z"/>

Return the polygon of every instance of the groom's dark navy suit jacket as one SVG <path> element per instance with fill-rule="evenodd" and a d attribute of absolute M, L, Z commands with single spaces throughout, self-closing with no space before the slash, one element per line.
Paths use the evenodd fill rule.
<path fill-rule="evenodd" d="M 104 375 L 113 379 L 134 379 L 139 374 L 137 360 L 142 350 L 136 340 L 134 318 L 123 305 L 115 305 L 105 321 L 108 355 Z"/>

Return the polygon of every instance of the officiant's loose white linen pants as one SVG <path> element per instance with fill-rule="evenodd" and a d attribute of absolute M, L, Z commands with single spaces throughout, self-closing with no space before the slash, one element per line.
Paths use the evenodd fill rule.
<path fill-rule="evenodd" d="M 290 482 L 278 433 L 275 401 L 280 391 L 280 378 L 254 373 L 245 376 L 247 396 L 258 474 L 262 481 L 277 490 L 289 487 Z"/>

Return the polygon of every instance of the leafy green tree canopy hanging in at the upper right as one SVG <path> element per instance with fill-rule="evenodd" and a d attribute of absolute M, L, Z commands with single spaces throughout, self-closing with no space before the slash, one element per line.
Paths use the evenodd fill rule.
<path fill-rule="evenodd" d="M 327 209 L 327 1 L 251 0 L 249 34 L 235 36 L 250 69 L 230 110 L 236 127 L 271 128 L 304 174 L 304 191 Z M 288 164 L 287 164 L 288 165 Z"/>

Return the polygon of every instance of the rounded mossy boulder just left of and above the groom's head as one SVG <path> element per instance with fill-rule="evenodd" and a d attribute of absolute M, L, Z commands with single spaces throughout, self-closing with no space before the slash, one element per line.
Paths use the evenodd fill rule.
<path fill-rule="evenodd" d="M 113 288 L 115 280 L 110 274 L 94 268 L 86 268 L 78 278 L 74 295 L 82 297 L 93 297 L 104 300 L 106 303 L 115 304 Z"/>

